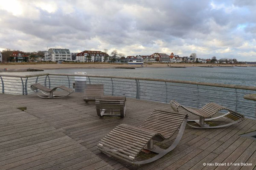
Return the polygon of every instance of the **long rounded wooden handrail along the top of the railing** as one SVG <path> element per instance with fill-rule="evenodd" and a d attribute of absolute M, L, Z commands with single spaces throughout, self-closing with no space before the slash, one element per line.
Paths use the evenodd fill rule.
<path fill-rule="evenodd" d="M 145 80 L 145 81 L 157 81 L 157 82 L 173 82 L 173 83 L 183 83 L 183 84 L 192 84 L 192 85 L 205 85 L 205 86 L 213 86 L 213 87 L 222 87 L 222 88 L 236 88 L 242 90 L 252 90 L 256 91 L 256 86 L 245 86 L 245 85 L 233 85 L 233 84 L 219 84 L 219 83 L 211 83 L 211 82 L 192 82 L 185 80 L 171 80 L 171 79 L 152 79 L 152 78 L 140 78 L 140 77 L 120 77 L 120 76 L 104 76 L 104 75 L 82 75 L 82 74 L 52 74 L 52 73 L 44 73 L 44 74 L 33 74 L 26 76 L 19 75 L 8 75 L 8 74 L 0 74 L 2 77 L 19 77 L 19 78 L 29 78 L 29 77 L 38 77 L 38 76 L 79 76 L 79 77 L 101 77 L 101 78 L 114 78 L 114 79 L 135 79 L 135 80 Z"/>

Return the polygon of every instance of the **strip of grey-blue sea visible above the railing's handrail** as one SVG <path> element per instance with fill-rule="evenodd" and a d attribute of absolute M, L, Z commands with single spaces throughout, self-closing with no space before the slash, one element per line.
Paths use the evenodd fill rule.
<path fill-rule="evenodd" d="M 195 82 L 215 82 L 235 85 L 256 86 L 256 67 L 214 67 L 214 68 L 89 68 L 89 69 L 55 69 L 40 72 L 15 72 L 4 74 L 30 75 L 41 73 L 73 74 L 85 71 L 90 75 L 108 75 L 123 77 L 143 77 L 156 79 L 177 79 Z"/>

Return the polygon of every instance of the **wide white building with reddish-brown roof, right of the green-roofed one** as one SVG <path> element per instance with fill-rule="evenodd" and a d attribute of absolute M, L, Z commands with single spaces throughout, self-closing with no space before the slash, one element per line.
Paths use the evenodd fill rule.
<path fill-rule="evenodd" d="M 76 54 L 76 61 L 80 62 L 104 62 L 105 57 L 109 57 L 107 53 L 102 51 L 83 51 Z M 117 57 L 116 57 L 117 59 Z M 120 59 L 120 58 L 119 58 Z M 108 59 L 107 59 L 108 61 Z"/>

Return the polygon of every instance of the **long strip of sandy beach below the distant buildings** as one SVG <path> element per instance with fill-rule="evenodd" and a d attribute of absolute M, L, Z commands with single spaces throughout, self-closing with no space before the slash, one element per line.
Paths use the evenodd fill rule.
<path fill-rule="evenodd" d="M 144 64 L 143 67 L 216 67 L 217 65 L 212 64 Z M 219 65 L 218 65 L 219 66 Z M 220 65 L 221 67 L 232 67 L 233 65 Z M 253 66 L 253 65 L 239 65 L 239 66 Z M 254 65 L 256 66 L 256 65 Z M 7 71 L 26 71 L 28 68 L 35 68 L 35 69 L 65 69 L 65 68 L 116 68 L 116 67 L 134 67 L 140 68 L 141 65 L 128 65 L 128 64 L 37 64 L 37 65 L 0 65 L 0 72 L 4 71 L 4 68 Z"/>

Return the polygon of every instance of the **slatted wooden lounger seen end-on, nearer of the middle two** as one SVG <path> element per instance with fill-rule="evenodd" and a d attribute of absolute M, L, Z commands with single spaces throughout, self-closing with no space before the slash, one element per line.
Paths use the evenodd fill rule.
<path fill-rule="evenodd" d="M 125 117 L 125 96 L 102 96 L 100 99 L 96 99 L 95 104 L 98 116 Z"/>

